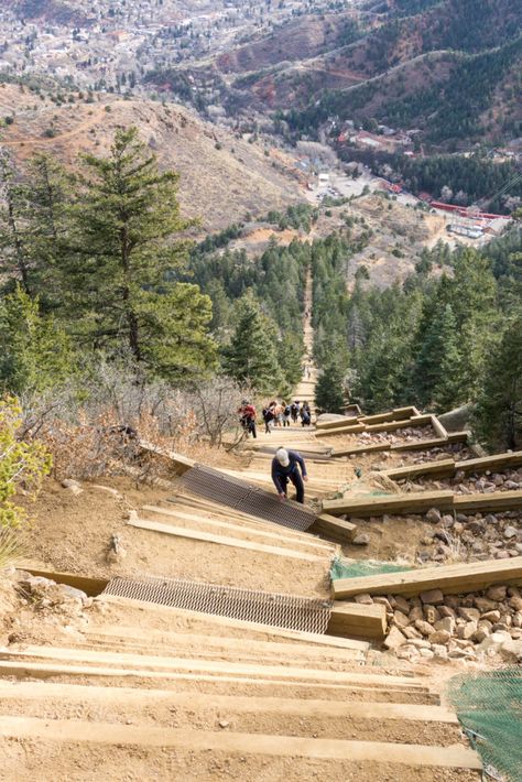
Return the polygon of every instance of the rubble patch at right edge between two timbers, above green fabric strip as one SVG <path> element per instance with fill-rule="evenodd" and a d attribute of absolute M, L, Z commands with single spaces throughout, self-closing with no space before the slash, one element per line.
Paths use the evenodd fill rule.
<path fill-rule="evenodd" d="M 433 531 L 422 539 L 418 561 L 464 562 L 509 560 L 522 555 L 522 512 L 441 513 L 432 508 L 425 517 Z"/>

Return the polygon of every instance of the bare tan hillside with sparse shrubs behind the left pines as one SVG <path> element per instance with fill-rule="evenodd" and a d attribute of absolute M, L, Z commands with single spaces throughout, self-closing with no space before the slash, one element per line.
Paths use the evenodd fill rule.
<path fill-rule="evenodd" d="M 112 96 L 62 106 L 34 100 L 18 86 L 0 88 L 0 111 L 13 117 L 1 131 L 1 144 L 19 161 L 48 151 L 74 164 L 80 152 L 104 152 L 117 127 L 135 124 L 161 164 L 180 172 L 182 208 L 199 217 L 205 230 L 303 200 L 302 185 L 281 152 L 275 158 L 272 150 L 203 122 L 181 106 Z"/>

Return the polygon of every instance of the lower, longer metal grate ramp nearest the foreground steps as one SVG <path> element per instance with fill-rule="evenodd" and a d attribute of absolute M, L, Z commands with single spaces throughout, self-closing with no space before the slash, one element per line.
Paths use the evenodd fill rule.
<path fill-rule="evenodd" d="M 319 634 L 326 632 L 333 607 L 320 598 L 171 578 L 112 578 L 102 594 Z"/>

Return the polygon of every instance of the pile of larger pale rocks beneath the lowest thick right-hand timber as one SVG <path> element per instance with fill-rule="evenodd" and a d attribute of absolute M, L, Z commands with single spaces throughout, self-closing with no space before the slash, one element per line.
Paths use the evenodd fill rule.
<path fill-rule="evenodd" d="M 468 595 L 431 589 L 418 597 L 358 595 L 359 604 L 385 606 L 384 647 L 402 660 L 479 660 L 500 654 L 522 661 L 522 593 L 503 585 Z"/>

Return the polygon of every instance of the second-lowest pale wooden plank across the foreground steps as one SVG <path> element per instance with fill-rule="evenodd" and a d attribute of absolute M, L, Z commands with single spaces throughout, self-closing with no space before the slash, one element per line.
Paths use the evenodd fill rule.
<path fill-rule="evenodd" d="M 455 712 L 444 706 L 365 703 L 346 700 L 326 700 L 320 698 L 287 698 L 244 695 L 218 695 L 211 698 L 206 693 L 181 692 L 172 689 L 139 689 L 137 687 L 101 687 L 85 684 L 34 682 L 0 682 L 0 695 L 3 702 L 17 698 L 24 702 L 54 699 L 61 703 L 104 702 L 107 704 L 142 704 L 166 702 L 182 708 L 215 710 L 225 709 L 238 714 L 274 714 L 303 717 L 331 717 L 338 719 L 400 719 L 426 723 L 458 725 Z"/>

